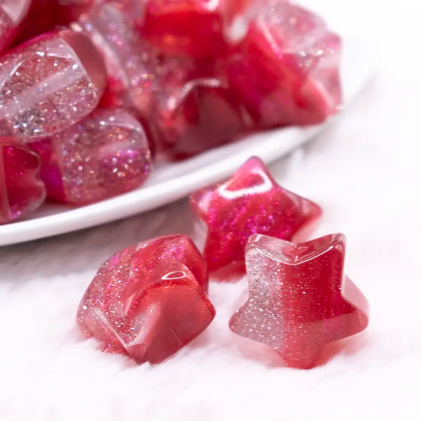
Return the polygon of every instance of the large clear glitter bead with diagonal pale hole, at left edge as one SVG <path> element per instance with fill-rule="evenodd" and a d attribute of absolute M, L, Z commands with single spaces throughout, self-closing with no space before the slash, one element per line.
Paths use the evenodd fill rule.
<path fill-rule="evenodd" d="M 50 136 L 89 114 L 104 88 L 104 64 L 88 37 L 41 35 L 0 60 L 0 120 L 18 138 Z"/>

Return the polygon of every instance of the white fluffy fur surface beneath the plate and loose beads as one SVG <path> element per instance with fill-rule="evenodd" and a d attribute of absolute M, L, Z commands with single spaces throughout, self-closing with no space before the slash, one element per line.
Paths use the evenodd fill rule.
<path fill-rule="evenodd" d="M 380 6 L 317 4 L 347 29 L 351 18 L 373 21 Z M 375 79 L 326 132 L 271 166 L 281 185 L 323 206 L 314 236 L 347 235 L 345 269 L 370 302 L 368 329 L 323 366 L 283 368 L 229 331 L 245 281 L 212 282 L 215 321 L 173 358 L 135 366 L 100 352 L 75 325 L 84 290 L 116 250 L 192 232 L 180 201 L 0 248 L 1 421 L 421 419 L 420 9 L 409 1 L 385 8 L 371 28 Z"/>

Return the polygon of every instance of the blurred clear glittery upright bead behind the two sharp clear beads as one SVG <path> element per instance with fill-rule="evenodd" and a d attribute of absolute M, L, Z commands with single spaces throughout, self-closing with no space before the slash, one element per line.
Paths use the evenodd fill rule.
<path fill-rule="evenodd" d="M 72 28 L 89 36 L 105 60 L 108 84 L 102 105 L 132 109 L 147 121 L 158 89 L 159 60 L 135 32 L 125 11 L 116 1 L 98 4 Z"/>

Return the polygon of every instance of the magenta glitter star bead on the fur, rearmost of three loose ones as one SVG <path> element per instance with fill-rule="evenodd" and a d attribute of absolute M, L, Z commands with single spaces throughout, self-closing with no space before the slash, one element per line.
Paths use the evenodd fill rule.
<path fill-rule="evenodd" d="M 244 273 L 244 248 L 252 234 L 303 239 L 321 208 L 283 189 L 259 158 L 250 158 L 229 180 L 192 194 L 190 204 L 208 229 L 204 255 L 217 276 Z"/>

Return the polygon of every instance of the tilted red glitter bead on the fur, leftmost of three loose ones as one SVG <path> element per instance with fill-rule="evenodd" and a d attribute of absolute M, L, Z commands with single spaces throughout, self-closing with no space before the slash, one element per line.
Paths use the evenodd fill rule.
<path fill-rule="evenodd" d="M 121 250 L 82 298 L 79 328 L 110 352 L 159 363 L 213 320 L 206 262 L 188 236 L 151 239 Z"/>

